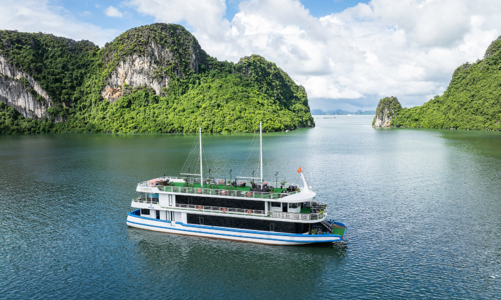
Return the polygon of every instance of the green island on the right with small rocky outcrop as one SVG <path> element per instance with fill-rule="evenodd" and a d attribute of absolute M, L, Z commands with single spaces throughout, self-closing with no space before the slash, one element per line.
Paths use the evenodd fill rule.
<path fill-rule="evenodd" d="M 402 108 L 397 97 L 379 100 L 375 127 L 501 130 L 501 36 L 483 59 L 464 63 L 452 73 L 441 96 L 421 106 Z"/>

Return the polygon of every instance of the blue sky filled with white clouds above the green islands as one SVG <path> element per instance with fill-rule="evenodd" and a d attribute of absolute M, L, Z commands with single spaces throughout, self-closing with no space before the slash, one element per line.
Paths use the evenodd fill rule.
<path fill-rule="evenodd" d="M 178 23 L 219 60 L 260 54 L 305 86 L 311 108 L 404 107 L 441 95 L 454 69 L 501 35 L 499 0 L 0 0 L 0 29 L 104 46 Z"/>

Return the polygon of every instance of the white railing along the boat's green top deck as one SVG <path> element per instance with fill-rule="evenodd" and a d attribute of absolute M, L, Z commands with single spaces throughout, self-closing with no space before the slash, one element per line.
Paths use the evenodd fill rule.
<path fill-rule="evenodd" d="M 230 197 L 243 197 L 243 198 L 260 198 L 276 200 L 285 196 L 298 193 L 299 191 L 290 191 L 285 193 L 280 192 L 261 192 L 261 191 L 244 191 L 237 189 L 219 189 L 219 188 L 199 188 L 199 187 L 186 187 L 186 186 L 171 186 L 171 185 L 157 185 L 155 186 L 160 191 L 177 192 L 177 193 L 190 193 L 199 195 L 219 195 Z"/>

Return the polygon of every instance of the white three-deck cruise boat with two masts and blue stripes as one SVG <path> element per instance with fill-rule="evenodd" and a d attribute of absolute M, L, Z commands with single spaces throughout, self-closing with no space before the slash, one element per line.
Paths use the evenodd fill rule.
<path fill-rule="evenodd" d="M 137 184 L 136 208 L 127 225 L 169 233 L 266 244 L 306 244 L 343 240 L 346 226 L 327 218 L 327 204 L 301 175 L 302 185 L 274 187 L 263 180 L 260 123 L 260 177 L 203 177 L 200 173 L 163 176 Z"/>

